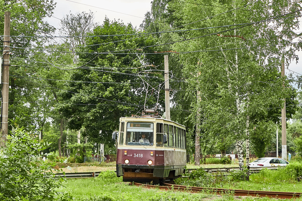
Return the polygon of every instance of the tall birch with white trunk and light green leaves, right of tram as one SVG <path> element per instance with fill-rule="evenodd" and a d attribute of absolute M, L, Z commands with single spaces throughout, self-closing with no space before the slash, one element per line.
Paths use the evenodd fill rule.
<path fill-rule="evenodd" d="M 243 165 L 246 131 L 262 125 L 259 119 L 249 117 L 267 116 L 266 108 L 279 107 L 280 98 L 291 96 L 289 90 L 281 88 L 278 66 L 281 55 L 287 60 L 297 57 L 294 50 L 300 44 L 292 42 L 297 37 L 295 16 L 301 14 L 301 6 L 298 1 L 287 0 L 199 0 L 172 1 L 168 9 L 185 29 L 205 28 L 179 34 L 178 41 L 184 42 L 173 47 L 180 52 L 199 51 L 181 58 L 190 89 L 202 88 L 202 128 L 211 136 L 228 133 L 228 140 L 236 141 L 239 165 Z M 199 72 L 196 81 L 193 75 Z"/>

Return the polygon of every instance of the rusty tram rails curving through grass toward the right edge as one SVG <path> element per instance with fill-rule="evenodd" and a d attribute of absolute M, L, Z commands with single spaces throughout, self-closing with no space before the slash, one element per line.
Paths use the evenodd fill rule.
<path fill-rule="evenodd" d="M 140 184 L 133 182 L 136 186 L 141 186 L 145 188 L 158 188 L 162 190 L 180 190 L 190 193 L 213 193 L 217 195 L 229 195 L 234 196 L 255 196 L 255 197 L 269 197 L 269 198 L 279 198 L 279 199 L 291 199 L 302 197 L 302 193 L 293 192 L 275 192 L 275 191 L 261 191 L 261 190 L 236 190 L 236 189 L 223 189 L 223 188 L 205 188 L 205 187 L 194 187 L 194 186 L 181 186 L 168 183 L 162 183 L 165 186 L 155 186 L 148 184 Z"/>

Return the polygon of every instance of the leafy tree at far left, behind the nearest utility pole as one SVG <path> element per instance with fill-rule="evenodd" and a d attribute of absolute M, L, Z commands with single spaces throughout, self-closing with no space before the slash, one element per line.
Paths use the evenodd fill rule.
<path fill-rule="evenodd" d="M 33 106 L 30 102 L 39 100 L 43 102 L 39 93 L 43 94 L 41 88 L 37 88 L 36 84 L 28 83 L 24 77 L 33 75 L 35 69 L 29 64 L 33 53 L 30 49 L 34 46 L 39 46 L 47 39 L 36 36 L 51 36 L 54 31 L 53 26 L 50 26 L 43 19 L 50 17 L 53 13 L 55 3 L 51 0 L 24 0 L 24 1 L 0 1 L 0 32 L 4 29 L 4 12 L 11 12 L 11 57 L 10 57 L 10 74 L 23 76 L 16 78 L 10 75 L 10 92 L 9 92 L 9 129 L 14 123 L 18 123 L 27 129 L 40 128 L 38 125 L 39 118 L 43 117 L 35 111 L 43 109 L 37 105 Z M 26 36 L 26 37 L 24 37 Z M 0 39 L 3 44 L 3 38 Z M 29 48 L 29 49 L 28 49 Z M 46 95 L 47 96 L 47 95 Z M 31 98 L 30 98 L 31 97 Z M 28 100 L 26 100 L 28 99 Z M 47 97 L 45 97 L 47 100 Z M 33 117 L 33 118 L 32 118 Z"/>

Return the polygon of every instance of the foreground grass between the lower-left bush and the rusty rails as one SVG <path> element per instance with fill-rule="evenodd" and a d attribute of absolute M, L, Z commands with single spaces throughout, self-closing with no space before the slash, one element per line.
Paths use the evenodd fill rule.
<path fill-rule="evenodd" d="M 214 197 L 214 195 L 206 195 L 203 193 L 188 194 L 184 192 L 166 192 L 158 189 L 146 189 L 142 187 L 129 186 L 128 183 L 129 182 L 122 182 L 122 177 L 114 179 L 70 179 L 66 183 L 66 189 L 61 190 L 71 193 L 74 200 L 77 201 L 104 195 L 112 198 L 113 200 L 125 201 L 165 200 L 159 199 L 164 197 L 169 197 L 169 200 L 171 201 L 193 201 L 211 199 Z"/>

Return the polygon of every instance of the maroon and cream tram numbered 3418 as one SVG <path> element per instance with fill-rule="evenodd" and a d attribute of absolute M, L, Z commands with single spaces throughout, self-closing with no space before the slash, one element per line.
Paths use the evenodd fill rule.
<path fill-rule="evenodd" d="M 123 181 L 158 183 L 181 176 L 186 165 L 186 130 L 156 117 L 121 117 L 117 176 Z"/>

